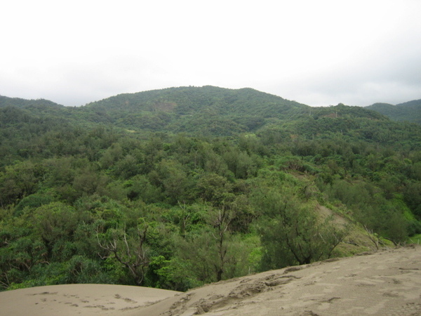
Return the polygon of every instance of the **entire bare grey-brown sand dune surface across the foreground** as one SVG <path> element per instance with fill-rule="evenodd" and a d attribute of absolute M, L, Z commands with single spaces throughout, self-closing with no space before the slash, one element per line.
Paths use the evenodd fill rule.
<path fill-rule="evenodd" d="M 60 285 L 0 293 L 1 315 L 421 315 L 421 247 L 331 259 L 186 293 Z"/>

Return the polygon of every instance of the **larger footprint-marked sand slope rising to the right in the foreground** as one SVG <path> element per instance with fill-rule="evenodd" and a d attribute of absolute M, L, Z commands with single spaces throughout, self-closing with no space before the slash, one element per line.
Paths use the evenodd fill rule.
<path fill-rule="evenodd" d="M 131 315 L 421 315 L 421 247 L 208 284 Z"/>

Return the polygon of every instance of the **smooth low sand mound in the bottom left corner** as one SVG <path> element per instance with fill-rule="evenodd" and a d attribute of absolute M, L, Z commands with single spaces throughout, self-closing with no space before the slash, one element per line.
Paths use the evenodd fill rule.
<path fill-rule="evenodd" d="M 180 294 L 107 284 L 65 284 L 0 292 L 0 315 L 127 315 L 133 308 Z"/>

